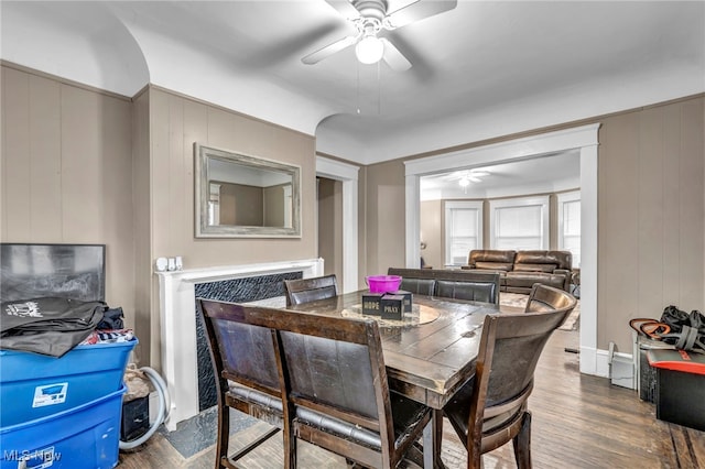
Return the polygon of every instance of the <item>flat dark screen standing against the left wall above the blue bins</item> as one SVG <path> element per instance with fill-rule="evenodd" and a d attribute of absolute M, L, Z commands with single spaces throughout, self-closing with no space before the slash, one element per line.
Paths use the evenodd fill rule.
<path fill-rule="evenodd" d="M 105 301 L 105 244 L 0 243 L 0 301 Z"/>

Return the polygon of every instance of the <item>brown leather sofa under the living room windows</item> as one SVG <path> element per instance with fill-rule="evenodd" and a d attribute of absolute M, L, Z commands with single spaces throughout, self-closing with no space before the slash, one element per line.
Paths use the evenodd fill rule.
<path fill-rule="evenodd" d="M 467 265 L 463 270 L 498 272 L 502 292 L 531 292 L 534 283 L 571 291 L 573 277 L 573 254 L 570 251 L 513 251 L 485 250 L 470 251 Z"/>

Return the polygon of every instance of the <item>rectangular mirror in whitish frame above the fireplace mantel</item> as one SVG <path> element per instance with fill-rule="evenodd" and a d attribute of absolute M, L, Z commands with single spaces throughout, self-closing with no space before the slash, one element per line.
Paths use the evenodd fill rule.
<path fill-rule="evenodd" d="M 197 238 L 301 238 L 301 168 L 194 143 Z"/>

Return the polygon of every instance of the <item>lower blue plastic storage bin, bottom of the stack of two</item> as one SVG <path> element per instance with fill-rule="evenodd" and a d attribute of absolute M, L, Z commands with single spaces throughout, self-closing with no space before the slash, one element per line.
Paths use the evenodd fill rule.
<path fill-rule="evenodd" d="M 109 469 L 118 465 L 123 385 L 106 396 L 0 428 L 0 469 Z"/>

